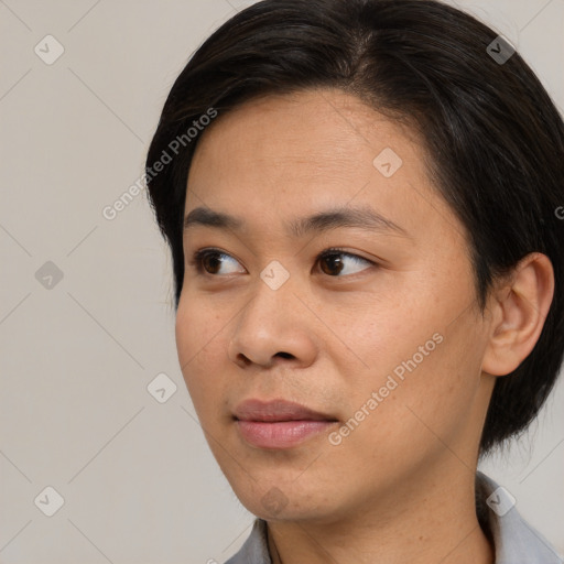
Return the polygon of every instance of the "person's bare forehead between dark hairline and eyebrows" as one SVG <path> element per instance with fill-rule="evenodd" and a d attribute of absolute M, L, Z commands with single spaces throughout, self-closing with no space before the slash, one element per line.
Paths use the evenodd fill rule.
<path fill-rule="evenodd" d="M 422 214 L 452 216 L 417 135 L 339 90 L 268 96 L 220 116 L 199 140 L 187 188 L 185 215 L 208 206 L 272 227 L 352 205 L 406 231 Z"/>

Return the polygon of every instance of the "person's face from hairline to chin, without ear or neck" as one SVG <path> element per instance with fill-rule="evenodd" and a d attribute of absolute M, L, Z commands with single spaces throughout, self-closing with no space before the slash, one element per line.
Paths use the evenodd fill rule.
<path fill-rule="evenodd" d="M 487 327 L 424 159 L 334 90 L 247 102 L 200 139 L 178 358 L 214 456 L 263 519 L 392 508 L 476 463 Z"/>

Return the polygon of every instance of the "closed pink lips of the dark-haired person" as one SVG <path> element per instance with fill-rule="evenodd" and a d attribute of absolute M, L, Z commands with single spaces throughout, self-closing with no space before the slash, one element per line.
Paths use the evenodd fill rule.
<path fill-rule="evenodd" d="M 338 420 L 285 400 L 247 400 L 234 412 L 242 438 L 258 448 L 290 448 L 327 431 Z"/>

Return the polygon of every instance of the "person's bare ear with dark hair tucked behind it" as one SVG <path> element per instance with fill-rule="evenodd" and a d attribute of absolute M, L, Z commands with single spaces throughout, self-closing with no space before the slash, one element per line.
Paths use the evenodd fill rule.
<path fill-rule="evenodd" d="M 541 335 L 553 295 L 550 259 L 540 252 L 521 259 L 491 296 L 484 372 L 506 376 L 529 356 Z"/>

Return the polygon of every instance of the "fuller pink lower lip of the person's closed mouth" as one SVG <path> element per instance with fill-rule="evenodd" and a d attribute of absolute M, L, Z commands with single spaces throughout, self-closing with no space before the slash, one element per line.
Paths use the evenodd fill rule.
<path fill-rule="evenodd" d="M 323 433 L 336 421 L 237 421 L 243 438 L 260 448 L 290 448 Z"/>

